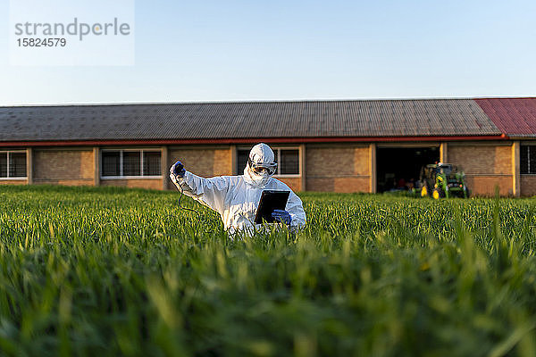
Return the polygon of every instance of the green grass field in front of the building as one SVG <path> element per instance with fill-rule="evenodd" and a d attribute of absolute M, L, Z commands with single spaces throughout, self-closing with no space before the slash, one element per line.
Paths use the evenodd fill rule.
<path fill-rule="evenodd" d="M 0 187 L 2 355 L 536 355 L 536 202 L 301 195 L 235 239 L 177 192 Z"/>

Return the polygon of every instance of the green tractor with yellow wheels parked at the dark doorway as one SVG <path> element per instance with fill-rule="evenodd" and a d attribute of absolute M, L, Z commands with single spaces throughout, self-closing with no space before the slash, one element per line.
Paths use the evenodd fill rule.
<path fill-rule="evenodd" d="M 434 163 L 421 169 L 421 196 L 436 200 L 443 197 L 469 198 L 465 173 L 451 163 Z"/>

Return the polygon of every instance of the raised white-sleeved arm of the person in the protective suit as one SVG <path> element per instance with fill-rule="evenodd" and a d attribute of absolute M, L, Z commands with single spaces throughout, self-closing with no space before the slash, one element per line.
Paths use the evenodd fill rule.
<path fill-rule="evenodd" d="M 175 178 L 171 173 L 170 178 L 184 195 L 192 197 L 220 214 L 224 211 L 225 196 L 230 184 L 228 178 L 220 176 L 204 179 L 189 171 L 186 171 L 182 178 Z"/>

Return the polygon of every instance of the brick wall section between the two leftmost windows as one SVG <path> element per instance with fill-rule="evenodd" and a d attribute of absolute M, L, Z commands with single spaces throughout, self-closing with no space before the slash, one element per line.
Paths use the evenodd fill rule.
<path fill-rule="evenodd" d="M 33 150 L 36 184 L 93 185 L 92 150 Z"/>

